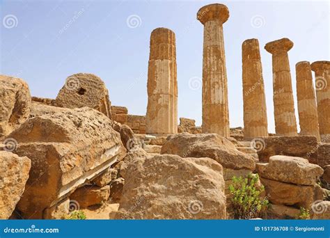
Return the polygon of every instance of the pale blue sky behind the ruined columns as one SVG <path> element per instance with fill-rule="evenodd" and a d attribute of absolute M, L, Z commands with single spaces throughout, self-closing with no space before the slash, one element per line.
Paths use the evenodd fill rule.
<path fill-rule="evenodd" d="M 201 6 L 215 1 L 0 1 L 1 74 L 28 82 L 31 95 L 55 98 L 66 77 L 90 72 L 101 77 L 113 105 L 145 115 L 150 33 L 176 34 L 178 116 L 201 125 L 203 25 Z M 329 2 L 221 1 L 230 17 L 223 24 L 230 127 L 243 126 L 242 42 L 258 38 L 265 81 L 269 132 L 274 132 L 272 56 L 263 47 L 290 38 L 294 100 L 295 64 L 329 61 Z M 194 84 L 189 84 L 194 82 Z M 298 116 L 297 116 L 298 118 Z"/>

